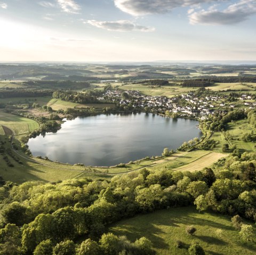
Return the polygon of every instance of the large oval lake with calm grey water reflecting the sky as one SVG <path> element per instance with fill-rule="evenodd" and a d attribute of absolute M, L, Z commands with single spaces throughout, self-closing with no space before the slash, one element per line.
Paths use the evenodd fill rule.
<path fill-rule="evenodd" d="M 163 149 L 177 149 L 183 142 L 201 137 L 198 121 L 172 119 L 156 114 L 100 114 L 67 120 L 57 133 L 30 138 L 34 156 L 47 156 L 62 163 L 114 166 Z"/>

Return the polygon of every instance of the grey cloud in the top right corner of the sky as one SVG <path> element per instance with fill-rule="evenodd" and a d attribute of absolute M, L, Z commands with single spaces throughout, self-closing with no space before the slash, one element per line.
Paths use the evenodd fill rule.
<path fill-rule="evenodd" d="M 241 0 L 231 4 L 227 9 L 219 11 L 216 5 L 208 10 L 192 11 L 189 14 L 191 24 L 236 24 L 247 20 L 251 15 L 256 14 L 255 0 Z"/>

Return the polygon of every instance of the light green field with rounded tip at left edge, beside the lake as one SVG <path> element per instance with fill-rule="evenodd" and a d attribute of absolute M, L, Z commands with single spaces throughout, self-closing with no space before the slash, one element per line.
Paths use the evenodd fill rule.
<path fill-rule="evenodd" d="M 39 127 L 34 120 L 4 112 L 0 112 L 0 125 L 12 129 L 15 135 L 27 134 Z"/>

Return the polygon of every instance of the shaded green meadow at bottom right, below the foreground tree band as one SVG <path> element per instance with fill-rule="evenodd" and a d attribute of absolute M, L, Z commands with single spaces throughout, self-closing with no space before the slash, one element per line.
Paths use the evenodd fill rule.
<path fill-rule="evenodd" d="M 185 232 L 189 225 L 197 229 L 193 236 Z M 255 243 L 241 240 L 238 231 L 231 226 L 230 216 L 198 213 L 194 207 L 171 208 L 125 219 L 111 226 L 109 232 L 126 235 L 131 241 L 145 236 L 153 242 L 158 255 L 188 254 L 188 246 L 194 242 L 212 255 L 250 255 L 256 251 Z M 184 244 L 181 249 L 176 247 L 178 240 Z"/>

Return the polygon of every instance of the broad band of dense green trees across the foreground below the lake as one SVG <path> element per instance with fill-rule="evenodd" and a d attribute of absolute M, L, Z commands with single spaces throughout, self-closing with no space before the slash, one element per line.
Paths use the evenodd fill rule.
<path fill-rule="evenodd" d="M 245 152 L 196 172 L 143 168 L 111 181 L 9 183 L 0 189 L 0 247 L 12 247 L 9 254 L 52 254 L 39 253 L 46 248 L 53 254 L 67 254 L 56 252 L 62 246 L 73 252 L 74 245 L 76 254 L 98 254 L 79 253 L 91 246 L 102 252 L 99 254 L 118 254 L 126 248 L 130 253 L 125 250 L 122 254 L 150 254 L 146 238 L 131 243 L 125 237 L 119 242 L 114 235 L 104 235 L 109 224 L 137 213 L 192 204 L 199 211 L 210 209 L 255 222 L 255 167 L 256 152 Z M 85 240 L 81 245 L 73 243 L 78 237 Z M 110 246 L 116 247 L 114 253 L 108 253 Z M 150 249 L 143 253 L 147 246 Z"/>

